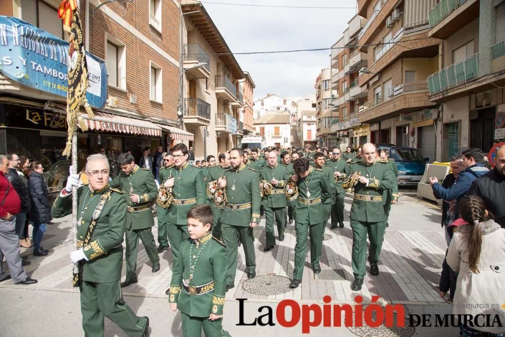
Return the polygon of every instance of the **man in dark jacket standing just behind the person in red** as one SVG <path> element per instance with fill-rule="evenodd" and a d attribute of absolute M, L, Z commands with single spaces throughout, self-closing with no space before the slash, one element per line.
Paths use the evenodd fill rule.
<path fill-rule="evenodd" d="M 29 239 L 27 240 L 24 236 L 26 214 L 30 211 L 30 194 L 28 192 L 26 183 L 23 181 L 17 171 L 19 163 L 18 155 L 8 155 L 7 159 L 9 160 L 9 167 L 7 169 L 7 174 L 5 177 L 12 184 L 19 196 L 19 199 L 21 200 L 21 209 L 18 214 L 16 214 L 16 234 L 18 234 L 19 237 L 19 244 L 22 247 L 30 248 L 33 245 L 30 243 Z"/>

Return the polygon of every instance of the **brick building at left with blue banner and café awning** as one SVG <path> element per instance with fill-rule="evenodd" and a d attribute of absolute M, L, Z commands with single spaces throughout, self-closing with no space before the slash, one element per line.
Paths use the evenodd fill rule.
<path fill-rule="evenodd" d="M 25 31 L 54 35 L 55 43 L 45 40 L 41 47 L 53 51 L 58 46 L 64 55 L 68 34 L 58 18 L 59 5 L 56 0 L 0 0 L 0 14 L 25 21 L 19 23 Z M 179 2 L 90 0 L 81 2 L 80 18 L 86 51 L 93 56 L 93 61 L 88 59 L 92 72 L 88 93 L 99 92 L 105 103 L 93 106 L 95 119 L 85 117 L 89 131 L 79 132 L 80 164 L 100 147 L 114 156 L 130 150 L 138 158 L 144 147 L 167 148 L 193 140 L 192 133 L 177 127 Z M 36 83 L 9 77 L 7 67 L 0 73 L 0 111 L 7 126 L 0 131 L 1 150 L 52 165 L 61 158 L 66 143 L 66 89 L 63 94 L 53 91 L 66 88 L 66 58 L 55 68 L 51 57 L 26 51 L 21 55 L 47 71 Z M 97 67 L 103 73 L 94 72 Z"/>

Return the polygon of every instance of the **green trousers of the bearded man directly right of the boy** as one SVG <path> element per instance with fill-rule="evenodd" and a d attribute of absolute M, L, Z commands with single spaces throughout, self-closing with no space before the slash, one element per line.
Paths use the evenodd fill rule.
<path fill-rule="evenodd" d="M 256 271 L 256 255 L 254 251 L 254 235 L 251 227 L 233 226 L 226 223 L 221 224 L 223 242 L 226 245 L 226 256 L 228 257 L 228 272 L 226 274 L 226 284 L 235 285 L 235 275 L 237 274 L 238 247 L 240 239 L 245 253 L 245 266 L 247 272 Z M 238 234 L 238 235 L 237 235 Z"/>

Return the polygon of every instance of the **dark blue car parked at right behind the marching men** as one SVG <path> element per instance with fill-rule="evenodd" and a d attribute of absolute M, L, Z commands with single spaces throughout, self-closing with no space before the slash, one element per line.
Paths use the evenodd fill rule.
<path fill-rule="evenodd" d="M 389 158 L 394 159 L 398 168 L 398 185 L 416 186 L 423 177 L 428 158 L 423 158 L 419 150 L 406 147 L 381 146 L 389 150 Z"/>

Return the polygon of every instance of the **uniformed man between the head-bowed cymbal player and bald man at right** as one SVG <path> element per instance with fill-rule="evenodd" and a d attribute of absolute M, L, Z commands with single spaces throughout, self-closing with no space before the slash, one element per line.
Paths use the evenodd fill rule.
<path fill-rule="evenodd" d="M 350 148 L 349 148 L 350 149 Z M 344 199 L 345 199 L 345 189 L 342 187 L 342 180 L 347 176 L 345 173 L 347 168 L 347 162 L 341 159 L 340 149 L 338 147 L 333 147 L 330 152 L 333 159 L 328 160 L 326 165 L 331 166 L 333 170 L 334 180 L 338 179 L 335 183 L 336 198 L 335 202 L 331 206 L 331 229 L 344 227 Z"/>

